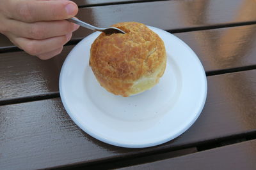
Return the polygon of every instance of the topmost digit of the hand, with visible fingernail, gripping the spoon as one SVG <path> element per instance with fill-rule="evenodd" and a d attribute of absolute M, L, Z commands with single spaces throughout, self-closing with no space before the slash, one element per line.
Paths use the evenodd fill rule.
<path fill-rule="evenodd" d="M 8 10 L 10 18 L 23 22 L 64 20 L 78 12 L 76 3 L 67 0 L 15 0 L 12 4 L 11 10 Z"/>

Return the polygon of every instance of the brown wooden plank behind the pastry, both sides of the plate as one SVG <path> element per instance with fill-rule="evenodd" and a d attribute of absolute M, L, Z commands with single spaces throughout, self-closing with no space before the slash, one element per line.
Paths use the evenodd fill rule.
<path fill-rule="evenodd" d="M 175 34 L 188 43 L 205 71 L 256 65 L 256 25 Z M 20 97 L 58 92 L 63 60 L 73 46 L 51 60 L 24 52 L 0 53 L 0 103 Z"/>

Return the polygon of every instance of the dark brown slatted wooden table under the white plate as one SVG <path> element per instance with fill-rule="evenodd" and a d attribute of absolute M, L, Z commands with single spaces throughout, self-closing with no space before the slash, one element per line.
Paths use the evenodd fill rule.
<path fill-rule="evenodd" d="M 185 41 L 207 74 L 202 114 L 184 134 L 143 149 L 111 146 L 70 119 L 58 89 L 68 52 L 39 60 L 0 35 L 0 169 L 256 169 L 255 0 L 74 0 L 98 26 L 136 21 Z"/>

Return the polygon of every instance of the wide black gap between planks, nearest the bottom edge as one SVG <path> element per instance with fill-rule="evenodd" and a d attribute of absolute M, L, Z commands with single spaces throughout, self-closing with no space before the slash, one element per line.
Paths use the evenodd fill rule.
<path fill-rule="evenodd" d="M 243 141 L 250 141 L 256 139 L 256 132 L 251 134 L 240 134 L 237 136 L 222 138 L 214 141 L 206 141 L 204 143 L 198 143 L 197 145 L 191 145 L 183 148 L 175 148 L 172 150 L 160 150 L 159 152 L 148 152 L 142 155 L 132 155 L 132 157 L 122 157 L 118 159 L 102 160 L 100 162 L 91 162 L 87 164 L 72 164 L 68 167 L 53 167 L 55 169 L 117 169 L 122 167 L 136 166 L 139 164 L 145 164 L 150 162 L 156 162 L 159 160 L 170 159 L 175 157 L 181 157 L 192 153 L 198 153 L 205 150 L 219 148 L 223 146 L 233 145 L 241 143 Z"/>

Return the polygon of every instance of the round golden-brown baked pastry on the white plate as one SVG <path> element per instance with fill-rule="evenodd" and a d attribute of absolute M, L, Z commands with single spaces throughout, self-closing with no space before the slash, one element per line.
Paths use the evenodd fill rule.
<path fill-rule="evenodd" d="M 151 89 L 166 67 L 163 40 L 138 22 L 112 26 L 126 33 L 102 32 L 90 51 L 90 66 L 100 85 L 124 97 Z"/>

